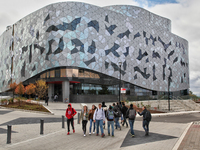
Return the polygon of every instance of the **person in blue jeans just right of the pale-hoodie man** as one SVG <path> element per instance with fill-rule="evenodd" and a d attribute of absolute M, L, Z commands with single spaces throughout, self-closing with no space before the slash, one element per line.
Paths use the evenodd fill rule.
<path fill-rule="evenodd" d="M 114 112 L 112 109 L 112 106 L 109 106 L 109 109 L 107 110 L 106 113 L 106 118 L 107 118 L 107 124 L 108 124 L 108 136 L 110 136 L 110 126 L 112 129 L 112 137 L 114 137 Z"/>

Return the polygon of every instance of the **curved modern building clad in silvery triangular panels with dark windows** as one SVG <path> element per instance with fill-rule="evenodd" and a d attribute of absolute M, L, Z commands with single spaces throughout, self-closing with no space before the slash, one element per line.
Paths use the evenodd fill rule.
<path fill-rule="evenodd" d="M 51 4 L 8 26 L 0 50 L 0 92 L 44 79 L 60 101 L 118 101 L 119 84 L 121 99 L 188 95 L 188 42 L 135 6 Z"/>

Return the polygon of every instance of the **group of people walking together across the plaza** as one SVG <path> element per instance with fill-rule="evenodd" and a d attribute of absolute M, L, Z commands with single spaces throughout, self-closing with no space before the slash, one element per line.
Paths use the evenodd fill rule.
<path fill-rule="evenodd" d="M 140 116 L 143 116 L 143 128 L 145 130 L 145 136 L 149 135 L 149 122 L 151 121 L 151 113 L 146 109 L 145 106 L 142 108 L 143 111 L 141 113 L 139 111 L 136 112 L 136 110 L 133 108 L 133 104 L 130 104 L 130 107 L 127 108 L 124 103 L 122 104 L 113 103 L 113 105 L 112 106 L 110 105 L 108 109 L 105 108 L 107 108 L 105 102 L 102 102 L 102 104 L 101 103 L 98 104 L 98 107 L 92 105 L 92 109 L 90 110 L 88 110 L 87 105 L 83 106 L 79 119 L 82 120 L 82 130 L 84 136 L 86 136 L 86 127 L 87 127 L 87 122 L 89 121 L 90 122 L 89 135 L 91 135 L 92 133 L 95 134 L 95 129 L 96 129 L 96 136 L 101 135 L 101 137 L 104 137 L 105 121 L 107 119 L 108 136 L 114 137 L 114 126 L 115 129 L 119 128 L 121 130 L 121 126 L 119 123 L 119 120 L 121 118 L 122 126 L 126 124 L 126 127 L 128 127 L 127 121 L 129 122 L 129 126 L 131 129 L 130 134 L 131 137 L 134 137 L 135 133 L 133 130 L 133 126 L 137 112 Z M 69 103 L 68 108 L 66 109 L 67 126 L 68 126 L 67 135 L 70 134 L 70 123 L 73 129 L 73 133 L 75 133 L 73 117 L 76 114 L 77 114 L 76 110 L 72 108 L 71 104 Z M 99 134 L 100 133 L 99 128 L 101 134 Z"/>

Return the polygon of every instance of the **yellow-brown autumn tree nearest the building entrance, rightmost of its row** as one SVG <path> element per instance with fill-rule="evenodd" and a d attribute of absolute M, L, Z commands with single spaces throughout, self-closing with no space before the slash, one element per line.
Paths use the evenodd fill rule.
<path fill-rule="evenodd" d="M 38 95 L 39 99 L 46 95 L 47 89 L 48 89 L 48 86 L 46 84 L 46 81 L 44 80 L 36 81 L 35 92 Z"/>

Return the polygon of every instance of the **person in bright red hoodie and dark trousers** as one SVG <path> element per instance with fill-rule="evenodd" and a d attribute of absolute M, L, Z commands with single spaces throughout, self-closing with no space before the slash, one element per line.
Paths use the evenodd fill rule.
<path fill-rule="evenodd" d="M 73 133 L 75 133 L 73 117 L 76 115 L 76 113 L 77 113 L 76 110 L 74 108 L 72 108 L 72 105 L 69 103 L 68 108 L 66 109 L 66 114 L 65 114 L 65 116 L 67 117 L 67 127 L 68 127 L 67 135 L 70 134 L 70 129 L 69 129 L 70 123 L 71 123 L 72 129 L 73 129 Z"/>

